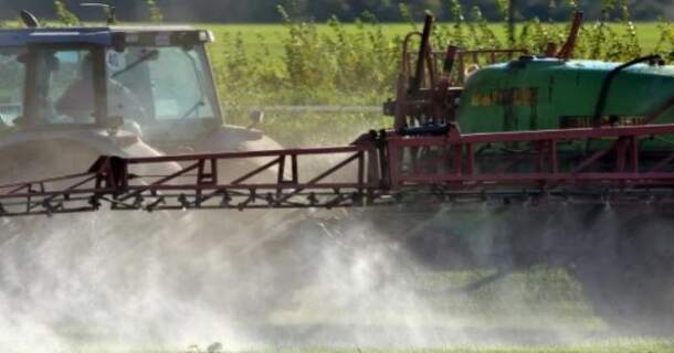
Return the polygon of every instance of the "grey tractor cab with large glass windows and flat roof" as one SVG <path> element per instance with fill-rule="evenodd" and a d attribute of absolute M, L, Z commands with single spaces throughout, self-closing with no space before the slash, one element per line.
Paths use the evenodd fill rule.
<path fill-rule="evenodd" d="M 1 30 L 0 137 L 96 130 L 134 133 L 166 153 L 278 148 L 223 126 L 212 41 L 189 26 Z"/>

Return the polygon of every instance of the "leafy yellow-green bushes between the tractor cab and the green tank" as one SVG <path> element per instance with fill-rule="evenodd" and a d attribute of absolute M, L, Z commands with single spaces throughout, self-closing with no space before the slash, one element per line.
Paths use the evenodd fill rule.
<path fill-rule="evenodd" d="M 355 31 L 333 18 L 325 33 L 313 22 L 294 20 L 282 7 L 278 11 L 287 33 L 280 57 L 272 56 L 268 47 L 256 56 L 248 54 L 241 33 L 222 39 L 225 52 L 218 75 L 228 103 L 250 104 L 254 98 L 248 97 L 268 98 L 265 93 L 273 92 L 277 103 L 330 104 L 340 94 L 372 96 L 389 90 L 399 65 L 400 40 L 388 38 L 371 17 L 357 20 Z M 241 96 L 246 98 L 238 99 Z"/>

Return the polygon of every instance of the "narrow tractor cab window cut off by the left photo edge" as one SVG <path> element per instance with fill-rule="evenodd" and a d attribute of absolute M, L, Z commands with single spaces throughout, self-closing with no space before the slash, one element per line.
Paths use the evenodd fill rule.
<path fill-rule="evenodd" d="M 24 50 L 0 50 L 0 127 L 23 115 Z"/>

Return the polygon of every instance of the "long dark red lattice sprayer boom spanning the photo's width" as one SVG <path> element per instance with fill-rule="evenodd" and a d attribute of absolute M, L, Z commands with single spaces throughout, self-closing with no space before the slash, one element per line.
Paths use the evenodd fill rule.
<path fill-rule="evenodd" d="M 674 152 L 644 141 L 674 125 L 446 136 L 370 133 L 339 148 L 155 158 L 102 157 L 88 172 L 0 186 L 0 215 L 115 211 L 302 208 L 465 202 L 674 201 Z M 601 141 L 591 153 L 572 145 Z M 518 146 L 507 160 L 489 150 Z M 335 161 L 315 170 L 317 159 Z M 259 159 L 262 167 L 224 178 L 218 165 Z M 642 162 L 643 161 L 643 162 Z M 646 162 L 647 161 L 647 162 Z M 171 174 L 135 171 L 179 163 Z"/>

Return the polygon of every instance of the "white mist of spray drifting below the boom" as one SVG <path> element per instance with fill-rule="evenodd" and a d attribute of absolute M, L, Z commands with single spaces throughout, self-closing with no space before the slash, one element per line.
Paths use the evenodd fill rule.
<path fill-rule="evenodd" d="M 467 248 L 478 250 L 472 260 L 484 265 L 489 253 L 514 250 L 486 239 L 504 236 L 504 224 L 523 208 L 512 208 L 514 215 L 485 208 L 467 226 L 465 214 L 454 211 L 424 218 L 425 231 L 412 227 L 408 235 L 428 242 L 432 237 L 414 232 L 440 234 L 452 226 L 443 231 L 433 223 L 455 229 L 463 224 L 475 239 Z M 443 347 L 583 339 L 580 329 L 569 329 L 573 322 L 531 303 L 531 292 L 540 290 L 535 278 L 506 274 L 465 291 L 462 278 L 474 275 L 428 268 L 410 253 L 409 239 L 396 238 L 376 220 L 366 213 L 317 221 L 274 211 L 3 221 L 0 347 Z M 519 229 L 543 232 L 545 249 L 568 235 L 556 226 L 572 228 L 580 220 L 562 210 Z M 604 227 L 614 220 L 604 214 L 594 221 Z M 440 254 L 456 245 L 434 244 Z M 433 285 L 443 276 L 459 285 Z M 536 338 L 527 336 L 533 327 L 540 329 Z"/>

